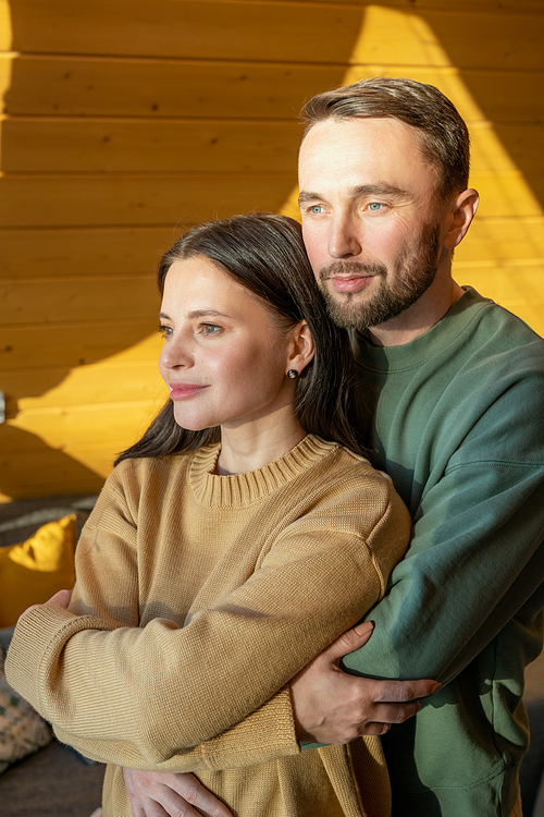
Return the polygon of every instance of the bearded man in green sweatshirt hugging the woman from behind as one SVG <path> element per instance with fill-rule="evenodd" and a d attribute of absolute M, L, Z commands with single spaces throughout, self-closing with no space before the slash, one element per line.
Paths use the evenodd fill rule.
<path fill-rule="evenodd" d="M 297 736 L 383 734 L 410 712 L 382 703 L 403 687 L 379 679 L 436 678 L 442 690 L 384 739 L 393 814 L 518 817 L 523 667 L 542 646 L 544 343 L 452 278 L 478 194 L 466 125 L 440 92 L 369 80 L 319 95 L 304 115 L 305 243 L 331 314 L 354 331 L 371 459 L 413 536 L 371 639 L 345 659 L 368 678 L 337 667 L 356 633 L 314 659 L 292 684 Z M 136 777 L 141 804 L 149 777 Z M 196 814 L 184 792 L 227 814 L 190 778 L 161 781 L 176 814 Z"/>

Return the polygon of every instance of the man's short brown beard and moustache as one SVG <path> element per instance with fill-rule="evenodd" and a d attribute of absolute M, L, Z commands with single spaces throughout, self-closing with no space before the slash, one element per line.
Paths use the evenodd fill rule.
<path fill-rule="evenodd" d="M 345 329 L 363 331 L 385 324 L 408 309 L 426 292 L 438 268 L 440 224 L 432 228 L 429 239 L 421 237 L 418 247 L 397 260 L 395 277 L 386 281 L 387 268 L 383 264 L 336 261 L 319 271 L 319 288 L 327 312 L 334 322 Z M 335 275 L 362 272 L 381 279 L 378 292 L 364 302 L 360 292 L 332 293 L 326 281 Z M 359 296 L 359 298 L 358 298 Z"/>

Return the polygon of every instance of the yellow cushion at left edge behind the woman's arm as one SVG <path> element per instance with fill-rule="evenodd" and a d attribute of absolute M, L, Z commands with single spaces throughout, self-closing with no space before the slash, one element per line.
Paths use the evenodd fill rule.
<path fill-rule="evenodd" d="M 21 545 L 0 548 L 0 627 L 12 626 L 30 605 L 75 583 L 75 514 L 49 522 Z"/>

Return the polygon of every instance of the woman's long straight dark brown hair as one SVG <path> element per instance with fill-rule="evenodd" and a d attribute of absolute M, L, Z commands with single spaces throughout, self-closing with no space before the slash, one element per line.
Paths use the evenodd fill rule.
<path fill-rule="evenodd" d="M 300 225 L 273 214 L 234 216 L 189 230 L 159 264 L 162 294 L 172 264 L 205 257 L 237 283 L 258 295 L 283 331 L 306 319 L 316 346 L 311 363 L 296 381 L 294 412 L 302 428 L 364 453 L 349 393 L 355 363 L 345 329 L 329 317 L 302 244 Z M 116 462 L 137 456 L 163 456 L 194 451 L 220 440 L 220 428 L 190 431 L 174 419 L 172 401 L 153 419 L 141 439 Z"/>

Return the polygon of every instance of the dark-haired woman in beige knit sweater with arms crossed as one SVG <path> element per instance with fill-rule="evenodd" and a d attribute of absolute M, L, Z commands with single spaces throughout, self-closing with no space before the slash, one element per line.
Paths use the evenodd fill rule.
<path fill-rule="evenodd" d="M 277 216 L 189 231 L 159 288 L 170 400 L 100 495 L 70 611 L 21 618 L 10 683 L 111 764 L 104 817 L 131 815 L 121 766 L 195 771 L 238 817 L 386 814 L 363 810 L 349 748 L 293 736 L 279 753 L 251 718 L 228 731 L 272 696 L 284 711 L 289 679 L 380 599 L 408 541 L 350 422 L 348 338 Z M 358 743 L 386 804 L 376 739 Z"/>

